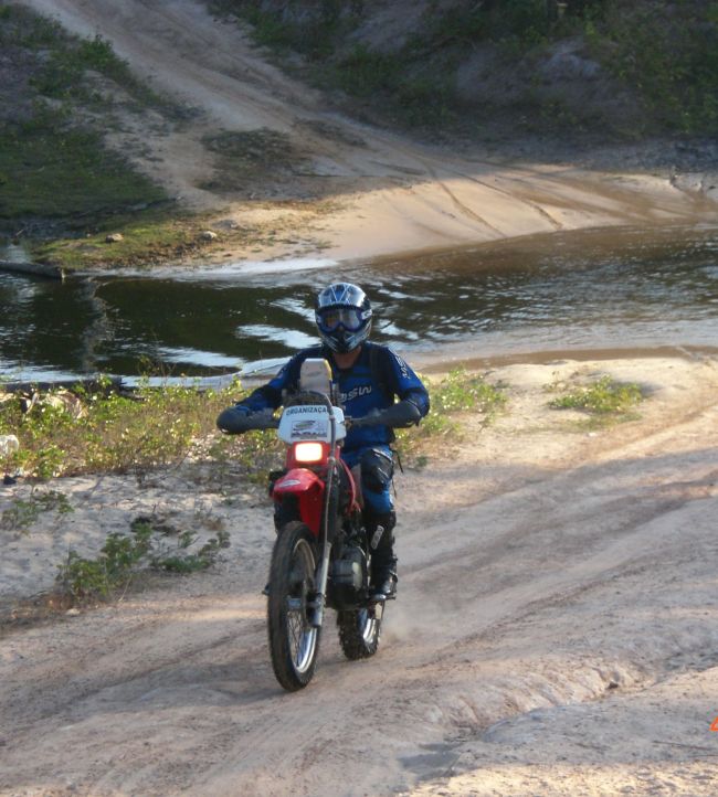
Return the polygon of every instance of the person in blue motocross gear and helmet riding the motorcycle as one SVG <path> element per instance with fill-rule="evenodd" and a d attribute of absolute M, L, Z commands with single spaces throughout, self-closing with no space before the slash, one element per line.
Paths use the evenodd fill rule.
<path fill-rule="evenodd" d="M 317 297 L 315 320 L 323 344 L 295 354 L 267 384 L 225 410 L 218 418 L 224 432 L 235 431 L 237 416 L 282 405 L 283 393 L 297 390 L 299 370 L 307 358 L 324 358 L 331 366 L 345 413 L 362 418 L 391 407 L 391 426 L 412 426 L 429 412 L 429 394 L 416 374 L 391 349 L 367 340 L 371 331 L 371 302 L 351 283 L 336 283 Z M 394 403 L 394 398 L 399 402 Z M 393 597 L 397 591 L 397 556 L 393 528 L 397 522 L 391 479 L 393 456 L 391 427 L 361 426 L 348 429 L 341 457 L 349 468 L 359 465 L 363 493 L 363 521 L 372 545 L 371 582 L 374 596 Z"/>

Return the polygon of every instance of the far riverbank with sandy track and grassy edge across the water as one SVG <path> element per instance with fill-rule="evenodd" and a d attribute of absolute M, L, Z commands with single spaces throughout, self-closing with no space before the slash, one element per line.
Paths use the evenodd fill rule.
<path fill-rule="evenodd" d="M 99 32 L 157 96 L 191 109 L 177 124 L 116 104 L 108 144 L 161 187 L 170 221 L 163 206 L 154 223 L 118 220 L 113 230 L 110 220 L 42 252 L 71 269 L 340 263 L 716 216 L 717 156 L 707 139 L 420 144 L 340 115 L 203 3 L 24 4 L 80 35 Z M 197 215 L 172 217 L 172 202 Z"/>

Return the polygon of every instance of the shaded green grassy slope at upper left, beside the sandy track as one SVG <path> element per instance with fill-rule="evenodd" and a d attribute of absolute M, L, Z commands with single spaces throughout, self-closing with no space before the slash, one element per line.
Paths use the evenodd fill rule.
<path fill-rule="evenodd" d="M 117 211 L 141 214 L 161 189 L 104 144 L 118 103 L 180 114 L 136 81 L 101 36 L 81 39 L 0 3 L 0 232 L 84 234 Z"/>

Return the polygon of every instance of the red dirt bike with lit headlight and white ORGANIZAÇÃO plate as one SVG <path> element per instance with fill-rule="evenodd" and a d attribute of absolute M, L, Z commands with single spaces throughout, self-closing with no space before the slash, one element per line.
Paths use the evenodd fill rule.
<path fill-rule="evenodd" d="M 348 659 L 379 648 L 384 601 L 370 589 L 371 541 L 362 524 L 360 481 L 340 457 L 347 427 L 391 422 L 386 412 L 345 418 L 325 360 L 306 360 L 299 391 L 279 418 L 246 415 L 233 433 L 277 428 L 287 445 L 285 468 L 270 475 L 276 541 L 267 594 L 272 666 L 284 689 L 312 680 L 327 608 L 337 612 L 339 642 Z"/>

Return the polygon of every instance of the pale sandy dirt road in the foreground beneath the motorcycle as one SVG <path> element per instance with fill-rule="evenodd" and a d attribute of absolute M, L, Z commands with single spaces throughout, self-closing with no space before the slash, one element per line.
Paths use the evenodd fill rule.
<path fill-rule="evenodd" d="M 577 432 L 546 385 L 578 372 L 650 387 L 642 417 Z M 87 550 L 148 509 L 224 523 L 232 544 L 210 573 L 6 635 L 0 794 L 714 795 L 716 362 L 493 378 L 497 423 L 465 418 L 458 448 L 398 479 L 379 655 L 345 661 L 329 626 L 298 694 L 266 649 L 265 499 L 228 506 L 217 464 L 53 483 L 74 512 L 8 541 L 6 601 L 13 567 L 52 578 L 51 541 Z"/>

